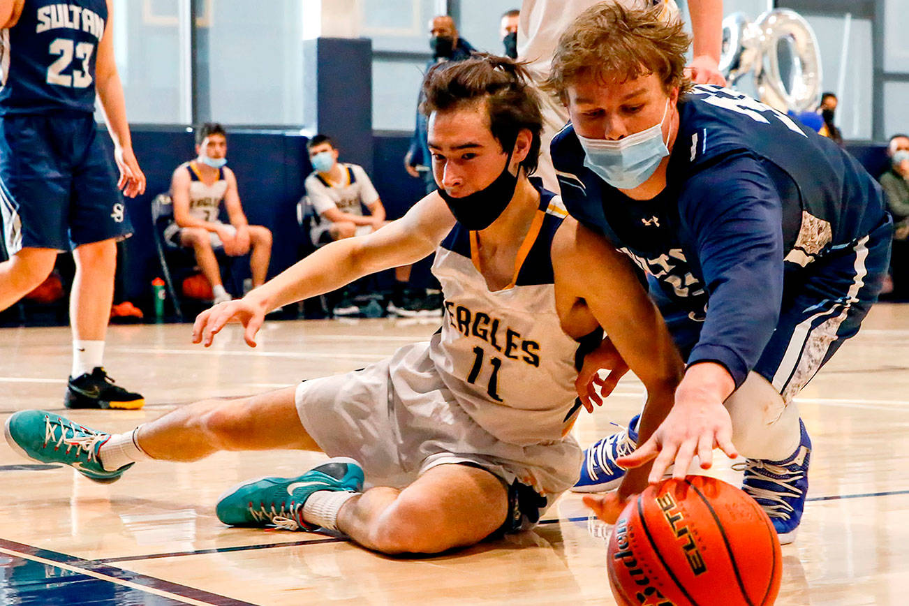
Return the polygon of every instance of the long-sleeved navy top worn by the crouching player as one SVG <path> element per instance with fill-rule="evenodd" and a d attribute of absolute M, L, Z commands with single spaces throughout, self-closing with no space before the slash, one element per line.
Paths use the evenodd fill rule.
<path fill-rule="evenodd" d="M 722 363 L 741 384 L 804 273 L 884 223 L 884 201 L 852 156 L 750 97 L 695 86 L 678 110 L 667 185 L 652 200 L 586 168 L 571 125 L 553 164 L 568 212 L 651 275 L 664 313 L 704 322 L 688 362 Z"/>

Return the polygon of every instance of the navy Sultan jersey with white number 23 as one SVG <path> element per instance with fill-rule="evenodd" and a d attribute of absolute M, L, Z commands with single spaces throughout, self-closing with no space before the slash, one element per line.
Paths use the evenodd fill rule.
<path fill-rule="evenodd" d="M 105 0 L 25 0 L 3 30 L 0 115 L 95 111 L 95 59 Z"/>

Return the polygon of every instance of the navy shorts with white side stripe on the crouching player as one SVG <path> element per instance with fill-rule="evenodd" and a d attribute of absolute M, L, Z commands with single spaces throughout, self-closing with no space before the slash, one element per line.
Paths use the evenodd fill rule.
<path fill-rule="evenodd" d="M 892 234 L 888 216 L 871 233 L 834 247 L 798 277 L 787 279 L 776 330 L 754 366 L 784 402 L 791 402 L 844 341 L 858 333 L 881 292 Z M 676 345 L 687 356 L 704 324 L 684 312 L 662 311 Z"/>

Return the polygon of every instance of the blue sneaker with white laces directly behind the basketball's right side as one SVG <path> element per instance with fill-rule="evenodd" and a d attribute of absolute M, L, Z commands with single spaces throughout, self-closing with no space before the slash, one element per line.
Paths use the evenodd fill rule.
<path fill-rule="evenodd" d="M 799 419 L 802 441 L 791 457 L 784 461 L 748 459 L 744 465 L 742 490 L 758 502 L 774 522 L 781 545 L 795 541 L 802 522 L 804 500 L 808 494 L 808 462 L 811 438 Z M 734 466 L 735 467 L 735 466 Z"/>

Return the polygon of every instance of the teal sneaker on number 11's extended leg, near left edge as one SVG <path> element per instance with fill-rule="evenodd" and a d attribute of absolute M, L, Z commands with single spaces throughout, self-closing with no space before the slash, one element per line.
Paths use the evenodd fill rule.
<path fill-rule="evenodd" d="M 133 466 L 124 465 L 108 472 L 98 460 L 98 449 L 110 433 L 95 432 L 53 412 L 19 411 L 6 420 L 4 434 L 15 452 L 26 459 L 45 463 L 64 463 L 89 480 L 116 482 Z"/>

